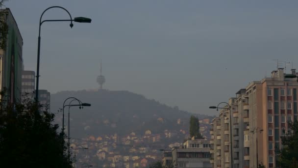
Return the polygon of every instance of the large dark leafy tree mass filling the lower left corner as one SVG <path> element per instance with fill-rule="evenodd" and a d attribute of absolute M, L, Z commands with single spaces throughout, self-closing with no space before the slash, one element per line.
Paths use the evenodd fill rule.
<path fill-rule="evenodd" d="M 39 113 L 38 108 L 27 99 L 0 109 L 1 167 L 72 167 L 72 159 L 66 154 L 66 136 L 52 124 L 54 114 Z"/>

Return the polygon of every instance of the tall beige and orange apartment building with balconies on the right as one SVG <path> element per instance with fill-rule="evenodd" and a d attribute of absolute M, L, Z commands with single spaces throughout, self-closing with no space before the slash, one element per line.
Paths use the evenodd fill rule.
<path fill-rule="evenodd" d="M 276 167 L 275 150 L 282 147 L 280 137 L 290 131 L 287 122 L 298 119 L 297 78 L 287 78 L 296 75 L 295 69 L 285 74 L 283 68 L 278 68 L 271 78 L 248 84 L 230 99 L 233 168 L 257 168 L 257 163 Z M 224 137 L 230 132 L 226 127 L 228 114 L 228 110 L 220 111 L 211 123 L 213 168 L 229 167 L 230 152 Z"/>

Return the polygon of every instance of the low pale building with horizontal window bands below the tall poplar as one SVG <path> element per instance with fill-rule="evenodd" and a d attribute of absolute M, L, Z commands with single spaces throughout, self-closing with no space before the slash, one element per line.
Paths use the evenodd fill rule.
<path fill-rule="evenodd" d="M 180 148 L 172 150 L 174 168 L 212 168 L 210 164 L 210 140 L 187 140 Z"/>

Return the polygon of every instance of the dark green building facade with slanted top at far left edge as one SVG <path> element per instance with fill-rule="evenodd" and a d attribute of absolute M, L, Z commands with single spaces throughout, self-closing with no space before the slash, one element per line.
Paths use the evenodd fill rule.
<path fill-rule="evenodd" d="M 8 104 L 21 102 L 23 65 L 23 38 L 9 8 L 0 9 L 8 26 L 6 48 L 0 48 L 0 89 L 6 90 L 1 101 Z"/>

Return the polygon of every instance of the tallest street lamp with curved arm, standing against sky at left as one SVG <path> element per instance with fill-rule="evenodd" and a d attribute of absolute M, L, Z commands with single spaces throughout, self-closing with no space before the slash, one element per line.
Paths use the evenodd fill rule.
<path fill-rule="evenodd" d="M 63 9 L 65 10 L 69 16 L 70 16 L 70 19 L 67 19 L 67 20 L 44 20 L 42 21 L 42 17 L 44 15 L 44 13 L 51 9 L 51 8 L 60 8 L 60 9 Z M 72 18 L 72 15 L 69 13 L 68 10 L 66 10 L 64 7 L 61 7 L 61 6 L 51 6 L 49 8 L 47 8 L 46 10 L 44 10 L 44 12 L 41 14 L 40 16 L 40 19 L 39 19 L 39 31 L 38 31 L 38 46 L 37 46 L 37 70 L 36 70 L 36 90 L 35 90 L 35 101 L 36 101 L 36 104 L 38 104 L 38 86 L 39 86 L 39 59 L 40 59 L 40 28 L 41 28 L 41 25 L 44 23 L 44 22 L 71 22 L 70 24 L 70 27 L 73 28 L 74 24 L 73 24 L 73 21 L 74 22 L 78 22 L 78 23 L 91 23 L 91 19 L 90 18 L 84 18 L 84 17 L 76 17 L 75 19 Z"/>

